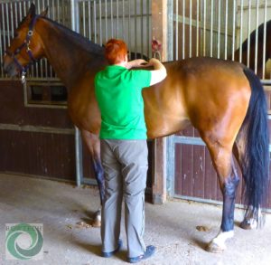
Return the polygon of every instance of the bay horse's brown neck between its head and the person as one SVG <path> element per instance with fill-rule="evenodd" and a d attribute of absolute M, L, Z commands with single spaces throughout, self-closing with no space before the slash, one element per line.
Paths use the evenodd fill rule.
<path fill-rule="evenodd" d="M 41 25 L 37 32 L 42 38 L 45 57 L 68 89 L 78 83 L 89 68 L 96 72 L 105 64 L 102 52 L 86 50 L 83 37 L 80 43 L 78 38 L 72 38 L 68 30 L 65 32 L 65 28 L 48 20 L 44 20 Z"/>

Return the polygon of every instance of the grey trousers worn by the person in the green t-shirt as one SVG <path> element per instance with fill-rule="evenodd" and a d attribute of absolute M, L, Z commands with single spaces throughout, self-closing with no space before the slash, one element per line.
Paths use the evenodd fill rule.
<path fill-rule="evenodd" d="M 101 140 L 106 190 L 101 215 L 102 251 L 117 249 L 123 199 L 127 257 L 134 258 L 145 251 L 143 234 L 147 156 L 146 140 Z"/>

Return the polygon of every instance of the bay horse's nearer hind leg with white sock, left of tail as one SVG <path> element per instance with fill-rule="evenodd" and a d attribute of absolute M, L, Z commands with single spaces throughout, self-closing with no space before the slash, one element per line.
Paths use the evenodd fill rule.
<path fill-rule="evenodd" d="M 215 137 L 202 137 L 210 151 L 210 156 L 220 180 L 220 189 L 223 194 L 222 222 L 219 234 L 210 241 L 207 250 L 210 252 L 222 252 L 226 249 L 225 242 L 233 237 L 234 208 L 236 190 L 239 177 L 234 165 L 231 147 L 223 145 Z"/>

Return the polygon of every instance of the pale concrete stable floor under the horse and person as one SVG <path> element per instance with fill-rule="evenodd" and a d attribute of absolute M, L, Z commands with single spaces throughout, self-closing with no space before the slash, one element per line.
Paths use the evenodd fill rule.
<path fill-rule="evenodd" d="M 98 191 L 89 187 L 0 174 L 0 264 L 117 265 L 126 263 L 126 243 L 116 257 L 99 257 L 99 228 L 85 227 L 98 208 Z M 250 265 L 271 264 L 271 214 L 262 230 L 238 228 L 242 211 L 236 210 L 235 237 L 222 254 L 204 251 L 219 231 L 221 207 L 202 203 L 170 201 L 145 203 L 145 243 L 157 252 L 147 265 Z M 5 223 L 42 223 L 43 259 L 6 260 Z M 206 231 L 197 230 L 206 227 Z M 124 225 L 121 237 L 125 240 Z"/>

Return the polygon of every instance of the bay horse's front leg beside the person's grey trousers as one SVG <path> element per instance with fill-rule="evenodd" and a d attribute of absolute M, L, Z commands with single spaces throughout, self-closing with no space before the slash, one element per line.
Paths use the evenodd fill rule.
<path fill-rule="evenodd" d="M 89 149 L 90 155 L 92 157 L 92 164 L 94 169 L 95 178 L 98 183 L 98 191 L 100 197 L 100 205 L 104 200 L 105 196 L 105 182 L 104 182 L 104 170 L 101 165 L 100 160 L 100 143 L 98 135 L 89 133 L 89 131 L 81 130 L 81 136 Z M 98 208 L 98 211 L 95 213 L 94 222 L 92 223 L 93 226 L 100 226 L 101 222 L 101 211 Z"/>

